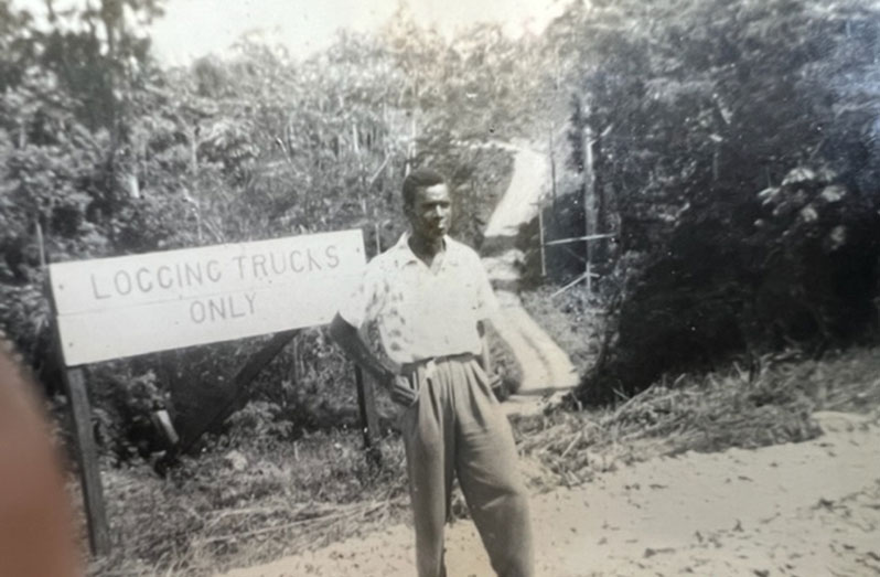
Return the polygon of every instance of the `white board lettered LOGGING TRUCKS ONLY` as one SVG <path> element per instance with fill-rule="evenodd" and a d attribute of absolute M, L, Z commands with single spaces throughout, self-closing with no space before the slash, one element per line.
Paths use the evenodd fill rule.
<path fill-rule="evenodd" d="M 50 266 L 67 366 L 330 322 L 361 231 Z"/>

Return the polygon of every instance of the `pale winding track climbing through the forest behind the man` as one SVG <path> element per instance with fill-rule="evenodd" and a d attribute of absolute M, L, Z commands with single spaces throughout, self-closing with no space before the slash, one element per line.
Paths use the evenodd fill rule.
<path fill-rule="evenodd" d="M 495 286 L 503 316 L 495 322 L 513 349 L 523 370 L 519 395 L 567 391 L 578 384 L 578 373 L 568 355 L 529 317 L 516 295 L 517 261 L 524 255 L 514 244 L 519 226 L 537 215 L 537 201 L 547 186 L 546 154 L 527 146 L 509 147 L 516 157 L 511 184 L 484 231 L 483 265 Z M 513 399 L 516 405 L 518 399 Z"/>

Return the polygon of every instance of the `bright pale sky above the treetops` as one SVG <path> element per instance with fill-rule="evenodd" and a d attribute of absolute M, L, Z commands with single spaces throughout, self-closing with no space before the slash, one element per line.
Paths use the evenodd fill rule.
<path fill-rule="evenodd" d="M 43 11 L 44 0 L 13 0 Z M 86 0 L 55 0 L 55 6 Z M 340 29 L 375 30 L 409 4 L 417 22 L 443 34 L 474 22 L 497 22 L 506 33 L 540 33 L 571 0 L 168 0 L 152 26 L 153 47 L 168 64 L 223 54 L 245 33 L 281 43 L 298 56 L 328 45 Z"/>

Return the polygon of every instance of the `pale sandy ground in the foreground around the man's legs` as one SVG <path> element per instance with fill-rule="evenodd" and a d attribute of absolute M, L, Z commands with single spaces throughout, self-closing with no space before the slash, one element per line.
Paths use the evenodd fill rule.
<path fill-rule="evenodd" d="M 826 434 L 758 450 L 686 453 L 534 496 L 537 575 L 880 575 L 880 419 L 819 414 Z M 228 577 L 411 577 L 397 525 Z M 468 521 L 450 576 L 493 575 Z"/>

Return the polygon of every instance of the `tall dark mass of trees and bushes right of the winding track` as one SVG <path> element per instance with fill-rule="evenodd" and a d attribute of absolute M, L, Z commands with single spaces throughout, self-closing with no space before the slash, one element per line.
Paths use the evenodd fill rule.
<path fill-rule="evenodd" d="M 571 153 L 583 170 L 591 147 L 624 278 L 581 398 L 873 329 L 876 8 L 678 0 L 569 17 L 556 33 L 575 54 Z"/>

